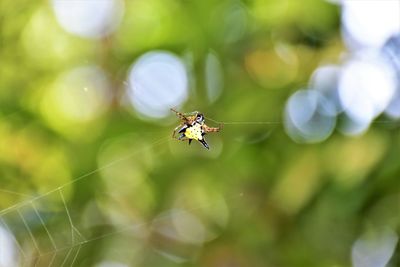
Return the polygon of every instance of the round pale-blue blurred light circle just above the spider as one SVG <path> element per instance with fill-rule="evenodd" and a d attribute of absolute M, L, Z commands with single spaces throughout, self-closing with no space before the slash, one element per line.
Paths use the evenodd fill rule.
<path fill-rule="evenodd" d="M 128 75 L 128 98 L 143 115 L 167 116 L 172 107 L 181 105 L 188 96 L 188 75 L 176 55 L 153 51 L 141 56 Z"/>

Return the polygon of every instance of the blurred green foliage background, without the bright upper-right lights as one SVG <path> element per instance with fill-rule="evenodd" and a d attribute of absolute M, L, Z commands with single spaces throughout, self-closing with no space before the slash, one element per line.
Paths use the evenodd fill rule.
<path fill-rule="evenodd" d="M 1 1 L 0 266 L 399 266 L 396 120 L 287 122 L 357 52 L 333 2 Z"/>

